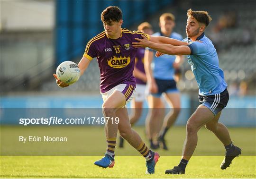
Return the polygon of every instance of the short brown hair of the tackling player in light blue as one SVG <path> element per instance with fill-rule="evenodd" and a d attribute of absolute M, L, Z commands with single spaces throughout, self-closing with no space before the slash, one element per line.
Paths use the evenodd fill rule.
<path fill-rule="evenodd" d="M 207 11 L 192 11 L 192 9 L 188 9 L 187 16 L 194 17 L 198 22 L 205 24 L 206 26 L 208 26 L 211 21 L 211 17 Z"/>

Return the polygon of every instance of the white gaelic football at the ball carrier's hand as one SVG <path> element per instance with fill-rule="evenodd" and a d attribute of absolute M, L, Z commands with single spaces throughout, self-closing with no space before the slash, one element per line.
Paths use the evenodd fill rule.
<path fill-rule="evenodd" d="M 56 74 L 61 81 L 71 85 L 79 79 L 80 69 L 73 61 L 64 61 L 56 69 Z"/>

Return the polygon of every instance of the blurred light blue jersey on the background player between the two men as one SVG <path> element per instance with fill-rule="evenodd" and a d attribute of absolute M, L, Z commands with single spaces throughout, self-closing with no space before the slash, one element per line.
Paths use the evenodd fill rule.
<path fill-rule="evenodd" d="M 152 36 L 164 36 L 160 32 L 153 34 Z M 170 35 L 170 38 L 182 40 L 182 36 L 178 33 L 173 32 Z M 154 59 L 152 60 L 152 70 L 153 75 L 157 79 L 163 80 L 173 80 L 174 79 L 174 68 L 173 63 L 175 61 L 175 55 L 162 55 L 160 57 L 155 57 L 155 50 L 150 49 L 150 51 L 154 51 Z"/>

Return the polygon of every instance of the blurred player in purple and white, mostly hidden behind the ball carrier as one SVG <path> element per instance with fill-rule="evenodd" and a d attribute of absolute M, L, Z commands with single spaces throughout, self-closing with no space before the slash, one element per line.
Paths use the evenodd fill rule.
<path fill-rule="evenodd" d="M 152 26 L 148 22 L 143 22 L 138 26 L 138 30 L 145 34 L 153 34 Z M 141 116 L 143 102 L 145 100 L 146 73 L 144 69 L 144 52 L 145 48 L 139 48 L 135 57 L 135 67 L 133 75 L 136 79 L 136 94 L 131 101 L 132 113 L 129 116 L 131 126 L 133 126 Z M 122 148 L 124 139 L 120 137 L 119 147 Z"/>

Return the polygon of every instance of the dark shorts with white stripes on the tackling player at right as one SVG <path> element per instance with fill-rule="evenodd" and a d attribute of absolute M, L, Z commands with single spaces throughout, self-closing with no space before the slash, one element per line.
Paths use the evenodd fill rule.
<path fill-rule="evenodd" d="M 198 98 L 201 105 L 209 108 L 210 111 L 212 111 L 213 114 L 216 116 L 219 111 L 223 110 L 227 106 L 229 102 L 229 92 L 226 88 L 223 92 L 219 94 L 207 96 L 199 95 Z"/>

